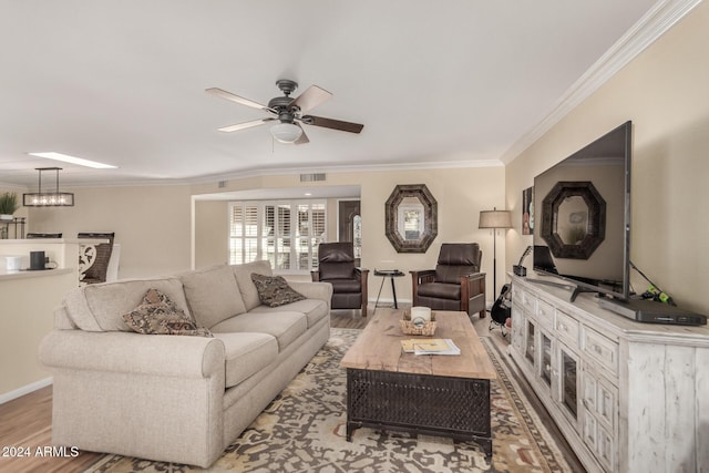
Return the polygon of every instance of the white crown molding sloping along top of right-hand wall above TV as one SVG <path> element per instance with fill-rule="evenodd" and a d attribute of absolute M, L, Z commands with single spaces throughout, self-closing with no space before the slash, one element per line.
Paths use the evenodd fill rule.
<path fill-rule="evenodd" d="M 657 2 L 562 95 L 546 117 L 517 140 L 502 155 L 502 163 L 506 165 L 513 162 L 524 150 L 541 138 L 701 1 L 662 0 Z"/>

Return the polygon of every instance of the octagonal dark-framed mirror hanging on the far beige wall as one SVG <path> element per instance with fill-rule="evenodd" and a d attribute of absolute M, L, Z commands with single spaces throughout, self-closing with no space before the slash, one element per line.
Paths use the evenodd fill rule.
<path fill-rule="evenodd" d="M 384 218 L 387 238 L 397 253 L 425 253 L 439 233 L 438 203 L 425 184 L 394 187 Z"/>

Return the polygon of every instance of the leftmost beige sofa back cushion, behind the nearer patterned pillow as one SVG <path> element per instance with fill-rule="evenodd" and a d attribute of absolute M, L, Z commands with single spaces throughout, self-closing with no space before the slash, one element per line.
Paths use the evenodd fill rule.
<path fill-rule="evenodd" d="M 178 309 L 191 316 L 182 281 L 177 278 L 122 279 L 76 288 L 64 298 L 64 311 L 81 330 L 132 331 L 123 315 L 138 306 L 151 288 L 169 297 Z"/>

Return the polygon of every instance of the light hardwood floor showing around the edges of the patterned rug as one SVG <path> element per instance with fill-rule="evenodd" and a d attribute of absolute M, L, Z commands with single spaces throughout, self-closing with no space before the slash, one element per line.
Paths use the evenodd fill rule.
<path fill-rule="evenodd" d="M 401 308 L 407 308 L 400 305 Z M 362 329 L 367 322 L 371 320 L 373 305 L 369 307 L 369 317 L 362 318 L 359 310 L 333 310 L 330 315 L 330 325 L 333 328 Z M 377 308 L 377 312 L 383 310 L 393 310 L 388 308 Z M 495 343 L 505 348 L 508 343 L 508 337 L 503 338 L 500 329 L 495 328 L 489 331 L 490 316 L 485 319 L 473 317 L 473 326 L 480 336 L 490 335 Z M 504 351 L 503 351 L 504 352 Z M 533 405 L 547 429 L 559 442 L 565 457 L 574 472 L 583 472 L 583 467 L 578 464 L 576 456 L 571 451 L 561 433 L 556 430 L 554 422 L 548 418 L 544 407 L 535 401 L 535 397 L 531 392 L 526 392 L 528 388 L 524 388 L 524 380 L 518 380 L 525 393 L 532 400 Z M 12 473 L 73 473 L 82 472 L 96 461 L 103 454 L 93 452 L 79 452 L 78 456 L 72 456 L 72 452 L 68 451 L 66 456 L 37 455 L 37 449 L 45 446 L 51 448 L 52 438 L 52 387 L 42 388 L 30 394 L 14 399 L 12 401 L 0 404 L 0 472 Z M 17 456 L 17 451 L 12 452 L 12 448 L 29 448 L 30 456 Z M 8 450 L 6 450 L 8 449 Z M 3 456 L 2 454 L 10 454 Z"/>

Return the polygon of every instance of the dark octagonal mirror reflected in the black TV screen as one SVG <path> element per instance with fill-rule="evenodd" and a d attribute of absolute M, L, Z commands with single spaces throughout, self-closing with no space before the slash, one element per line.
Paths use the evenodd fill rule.
<path fill-rule="evenodd" d="M 588 259 L 606 237 L 606 200 L 590 182 L 556 183 L 542 200 L 541 235 L 555 257 Z"/>

